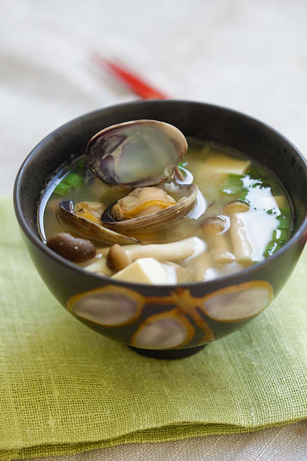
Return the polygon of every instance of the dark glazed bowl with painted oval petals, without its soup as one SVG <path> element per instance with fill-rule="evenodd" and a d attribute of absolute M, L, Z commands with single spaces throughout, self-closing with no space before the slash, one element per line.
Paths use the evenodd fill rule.
<path fill-rule="evenodd" d="M 171 123 L 186 136 L 246 152 L 286 187 L 294 212 L 289 242 L 264 262 L 217 280 L 177 286 L 117 282 L 90 274 L 53 253 L 38 237 L 41 191 L 63 162 L 84 152 L 99 130 L 135 119 Z M 307 238 L 307 165 L 295 146 L 244 114 L 189 101 L 139 101 L 86 114 L 43 139 L 21 166 L 15 213 L 43 281 L 73 316 L 108 338 L 151 357 L 179 358 L 226 336 L 254 318 L 292 273 Z"/>

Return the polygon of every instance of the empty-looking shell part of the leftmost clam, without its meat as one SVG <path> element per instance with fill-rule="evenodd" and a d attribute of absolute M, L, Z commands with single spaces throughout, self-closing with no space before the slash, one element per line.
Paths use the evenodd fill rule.
<path fill-rule="evenodd" d="M 99 222 L 97 222 L 95 217 L 93 217 L 94 220 L 91 221 L 90 219 L 77 215 L 74 213 L 74 204 L 72 200 L 63 200 L 59 202 L 57 216 L 61 221 L 68 224 L 77 234 L 91 240 L 105 243 L 106 245 L 113 245 L 114 243 L 125 245 L 138 242 L 134 237 L 126 237 L 125 235 L 118 234 L 104 227 L 102 223 L 99 224 Z"/>

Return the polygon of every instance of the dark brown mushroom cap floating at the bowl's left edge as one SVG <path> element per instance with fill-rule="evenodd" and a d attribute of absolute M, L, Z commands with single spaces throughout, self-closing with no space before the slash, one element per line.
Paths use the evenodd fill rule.
<path fill-rule="evenodd" d="M 87 261 L 96 256 L 96 247 L 90 240 L 75 238 L 68 232 L 53 234 L 47 240 L 47 246 L 72 262 Z"/>

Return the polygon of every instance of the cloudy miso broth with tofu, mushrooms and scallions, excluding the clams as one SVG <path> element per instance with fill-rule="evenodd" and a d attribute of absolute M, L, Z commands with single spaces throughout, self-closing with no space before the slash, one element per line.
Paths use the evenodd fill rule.
<path fill-rule="evenodd" d="M 199 187 L 188 213 L 176 222 L 166 222 L 162 228 L 149 226 L 123 233 L 137 241 L 121 245 L 120 254 L 128 261 L 122 268 L 116 260 L 112 262 L 112 244 L 97 241 L 94 236 L 90 240 L 96 247 L 96 256 L 76 264 L 115 280 L 202 282 L 256 264 L 288 241 L 292 230 L 291 206 L 272 172 L 226 146 L 195 139 L 189 139 L 188 145 L 176 175 L 177 184 L 193 183 Z M 184 189 L 173 183 L 158 187 L 176 202 L 184 195 Z M 63 232 L 89 239 L 80 228 L 59 218 L 56 211 L 61 200 L 90 204 L 99 222 L 106 207 L 133 190 L 134 187 L 105 184 L 86 168 L 85 157 L 79 157 L 56 175 L 42 197 L 38 209 L 42 241 Z"/>

